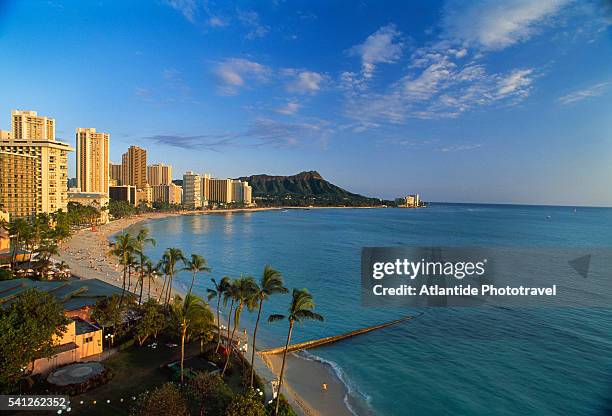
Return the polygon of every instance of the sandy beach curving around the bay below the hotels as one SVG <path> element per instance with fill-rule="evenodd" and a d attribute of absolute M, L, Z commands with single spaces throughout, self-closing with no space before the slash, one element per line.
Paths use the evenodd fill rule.
<path fill-rule="evenodd" d="M 109 239 L 119 232 L 138 223 L 149 220 L 160 220 L 168 217 L 183 215 L 210 215 L 233 212 L 259 212 L 278 211 L 287 209 L 373 209 L 378 207 L 262 207 L 262 208 L 234 208 L 212 211 L 181 211 L 146 213 L 129 218 L 121 218 L 96 227 L 84 228 L 75 232 L 70 239 L 63 242 L 59 247 L 59 257 L 71 269 L 73 277 L 79 279 L 97 278 L 106 283 L 121 287 L 123 275 L 118 261 L 108 254 L 110 250 Z M 134 280 L 134 275 L 132 275 Z M 157 298 L 161 291 L 163 279 L 154 279 L 151 282 L 151 296 Z M 175 284 L 172 291 L 181 294 Z M 148 285 L 145 285 L 143 299 L 146 298 Z M 261 343 L 260 343 L 261 345 Z M 259 348 L 261 349 L 261 347 Z M 270 382 L 277 377 L 280 369 L 282 355 L 262 357 L 255 354 L 255 370 L 265 380 L 266 388 L 270 388 Z M 322 383 L 326 383 L 326 391 L 322 389 Z M 349 387 L 328 363 L 301 357 L 298 354 L 287 354 L 285 366 L 285 380 L 283 383 L 283 394 L 294 410 L 302 416 L 354 416 L 349 410 L 350 391 Z"/>

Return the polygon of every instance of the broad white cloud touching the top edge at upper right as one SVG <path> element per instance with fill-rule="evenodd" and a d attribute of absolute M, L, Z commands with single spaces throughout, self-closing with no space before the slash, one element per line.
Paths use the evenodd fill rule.
<path fill-rule="evenodd" d="M 444 37 L 483 50 L 529 39 L 571 0 L 453 1 L 443 18 Z"/>

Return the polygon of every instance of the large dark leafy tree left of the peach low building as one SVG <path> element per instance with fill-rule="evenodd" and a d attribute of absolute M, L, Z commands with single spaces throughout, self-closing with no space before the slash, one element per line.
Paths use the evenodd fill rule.
<path fill-rule="evenodd" d="M 62 306 L 46 292 L 29 289 L 0 309 L 0 385 L 9 390 L 36 358 L 50 357 L 66 331 Z"/>

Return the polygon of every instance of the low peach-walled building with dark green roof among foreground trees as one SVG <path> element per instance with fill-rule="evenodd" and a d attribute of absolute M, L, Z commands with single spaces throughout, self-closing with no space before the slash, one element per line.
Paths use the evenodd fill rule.
<path fill-rule="evenodd" d="M 52 295 L 70 318 L 67 331 L 55 338 L 55 354 L 32 363 L 33 373 L 47 373 L 59 366 L 91 359 L 103 350 L 102 329 L 91 317 L 96 302 L 104 297 L 121 294 L 121 289 L 98 279 L 69 281 L 37 281 L 13 279 L 0 281 L 0 305 L 7 307 L 16 296 L 35 288 Z"/>

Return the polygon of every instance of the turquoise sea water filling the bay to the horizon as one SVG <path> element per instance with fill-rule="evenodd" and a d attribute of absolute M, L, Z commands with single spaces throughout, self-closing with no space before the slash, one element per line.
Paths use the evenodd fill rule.
<path fill-rule="evenodd" d="M 550 216 L 547 218 L 547 216 Z M 612 247 L 612 209 L 436 204 L 172 217 L 145 224 L 158 244 L 201 253 L 213 275 L 259 276 L 267 263 L 307 287 L 326 322 L 294 341 L 381 323 L 406 310 L 362 307 L 363 246 Z M 178 278 L 186 287 L 189 274 Z M 196 283 L 202 295 L 208 277 Z M 286 309 L 288 297 L 265 305 Z M 415 310 L 408 311 L 416 313 Z M 417 319 L 312 351 L 334 365 L 360 414 L 603 415 L 612 397 L 610 309 L 427 308 Z M 250 327 L 254 314 L 245 314 Z M 263 324 L 261 346 L 284 341 Z"/>

